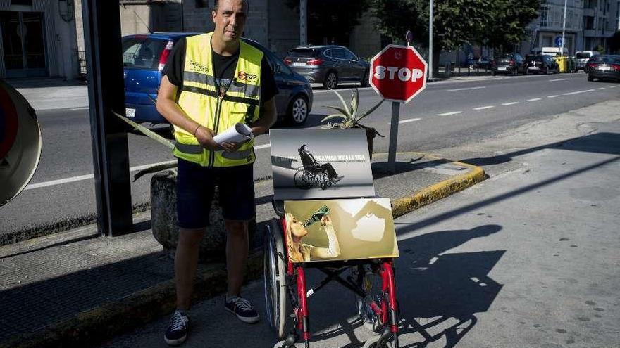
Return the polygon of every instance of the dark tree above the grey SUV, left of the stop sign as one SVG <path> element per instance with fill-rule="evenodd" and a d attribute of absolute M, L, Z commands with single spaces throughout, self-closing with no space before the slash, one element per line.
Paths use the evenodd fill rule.
<path fill-rule="evenodd" d="M 299 13 L 299 0 L 287 0 Z M 308 42 L 349 45 L 352 27 L 368 8 L 368 0 L 308 0 Z"/>

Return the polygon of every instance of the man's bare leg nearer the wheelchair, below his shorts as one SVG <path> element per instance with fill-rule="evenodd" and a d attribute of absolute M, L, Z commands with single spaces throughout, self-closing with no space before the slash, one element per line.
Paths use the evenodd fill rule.
<path fill-rule="evenodd" d="M 249 248 L 247 222 L 228 220 L 225 222 L 226 231 L 228 231 L 228 238 L 226 240 L 228 296 L 239 296 Z"/>

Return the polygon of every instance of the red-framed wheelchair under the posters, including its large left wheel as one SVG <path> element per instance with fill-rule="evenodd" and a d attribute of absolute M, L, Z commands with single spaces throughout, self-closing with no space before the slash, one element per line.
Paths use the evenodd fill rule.
<path fill-rule="evenodd" d="M 280 347 L 294 347 L 299 340 L 298 330 L 302 333 L 305 347 L 310 347 L 307 299 L 331 281 L 336 281 L 352 290 L 361 300 L 362 307 L 372 316 L 373 330 L 379 335 L 371 337 L 364 347 L 398 348 L 399 309 L 393 260 L 388 258 L 292 263 L 287 255 L 286 233 L 283 233 L 286 231 L 286 220 L 282 217 L 283 214 L 278 212 L 278 215 L 280 218 L 272 219 L 266 228 L 263 262 L 267 317 L 278 339 L 285 339 Z M 308 290 L 304 268 L 316 268 L 326 276 L 315 288 Z M 352 275 L 342 278 L 341 274 L 349 269 L 352 270 Z M 375 273 L 381 279 L 380 296 L 376 299 L 371 297 L 364 286 L 367 271 Z"/>

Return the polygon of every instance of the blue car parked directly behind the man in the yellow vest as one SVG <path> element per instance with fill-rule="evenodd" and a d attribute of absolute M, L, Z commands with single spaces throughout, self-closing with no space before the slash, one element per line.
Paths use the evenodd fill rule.
<path fill-rule="evenodd" d="M 167 123 L 157 112 L 157 98 L 161 70 L 175 42 L 197 32 L 156 32 L 123 37 L 123 65 L 125 67 L 125 113 L 136 122 Z M 312 108 L 313 94 L 309 82 L 290 70 L 287 65 L 256 41 L 243 38 L 248 44 L 263 51 L 275 73 L 275 84 L 280 91 L 275 96 L 278 120 L 293 125 L 306 122 Z"/>

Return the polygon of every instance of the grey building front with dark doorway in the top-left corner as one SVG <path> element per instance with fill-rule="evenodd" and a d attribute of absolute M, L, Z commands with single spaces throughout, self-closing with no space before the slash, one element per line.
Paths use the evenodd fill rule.
<path fill-rule="evenodd" d="M 73 0 L 0 0 L 0 30 L 0 77 L 77 77 Z"/>

